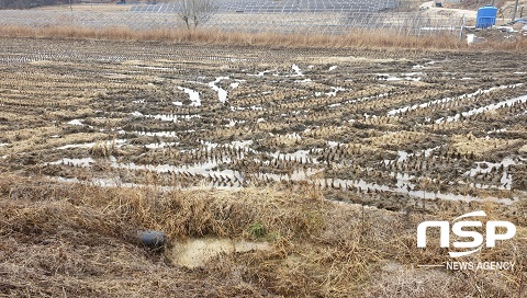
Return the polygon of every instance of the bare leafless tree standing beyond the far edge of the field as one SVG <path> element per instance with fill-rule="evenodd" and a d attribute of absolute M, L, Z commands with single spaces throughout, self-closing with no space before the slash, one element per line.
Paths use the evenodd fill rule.
<path fill-rule="evenodd" d="M 189 30 L 210 20 L 216 10 L 214 0 L 181 0 L 180 3 L 179 16 Z"/>

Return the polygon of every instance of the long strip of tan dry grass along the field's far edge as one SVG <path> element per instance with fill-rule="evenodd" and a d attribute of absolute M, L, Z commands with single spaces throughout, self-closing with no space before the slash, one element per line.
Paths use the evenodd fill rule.
<path fill-rule="evenodd" d="M 276 33 L 239 33 L 211 30 L 158 30 L 133 31 L 123 27 L 81 28 L 81 27 L 21 27 L 11 26 L 0 28 L 0 36 L 5 37 L 53 37 L 80 39 L 117 39 L 117 41 L 149 41 L 175 42 L 195 44 L 227 44 L 254 46 L 282 47 L 316 47 L 316 48 L 348 48 L 348 47 L 397 47 L 397 48 L 437 48 L 459 49 L 466 45 L 452 36 L 395 36 L 381 31 L 354 31 L 347 35 L 323 34 L 276 34 Z"/>

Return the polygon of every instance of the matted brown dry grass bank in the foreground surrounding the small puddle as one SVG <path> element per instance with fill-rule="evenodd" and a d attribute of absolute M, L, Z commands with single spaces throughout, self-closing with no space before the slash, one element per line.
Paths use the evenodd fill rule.
<path fill-rule="evenodd" d="M 20 297 L 525 297 L 525 203 L 504 218 L 495 205 L 445 204 L 437 218 L 483 208 L 513 220 L 514 241 L 479 260 L 514 260 L 514 272 L 414 268 L 446 261 L 416 248 L 422 214 L 391 213 L 321 199 L 316 190 L 171 191 L 102 188 L 0 180 L 0 296 Z M 302 195 L 299 195 L 302 194 Z M 250 239 L 265 227 L 271 252 L 224 255 L 199 270 L 141 248 L 143 229 L 172 241 L 218 236 Z"/>

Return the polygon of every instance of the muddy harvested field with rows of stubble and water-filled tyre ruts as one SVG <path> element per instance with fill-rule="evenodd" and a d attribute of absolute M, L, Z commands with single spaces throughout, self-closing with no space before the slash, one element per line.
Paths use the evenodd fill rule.
<path fill-rule="evenodd" d="M 515 54 L 1 43 L 2 172 L 314 185 L 388 209 L 527 191 L 527 66 Z"/>

